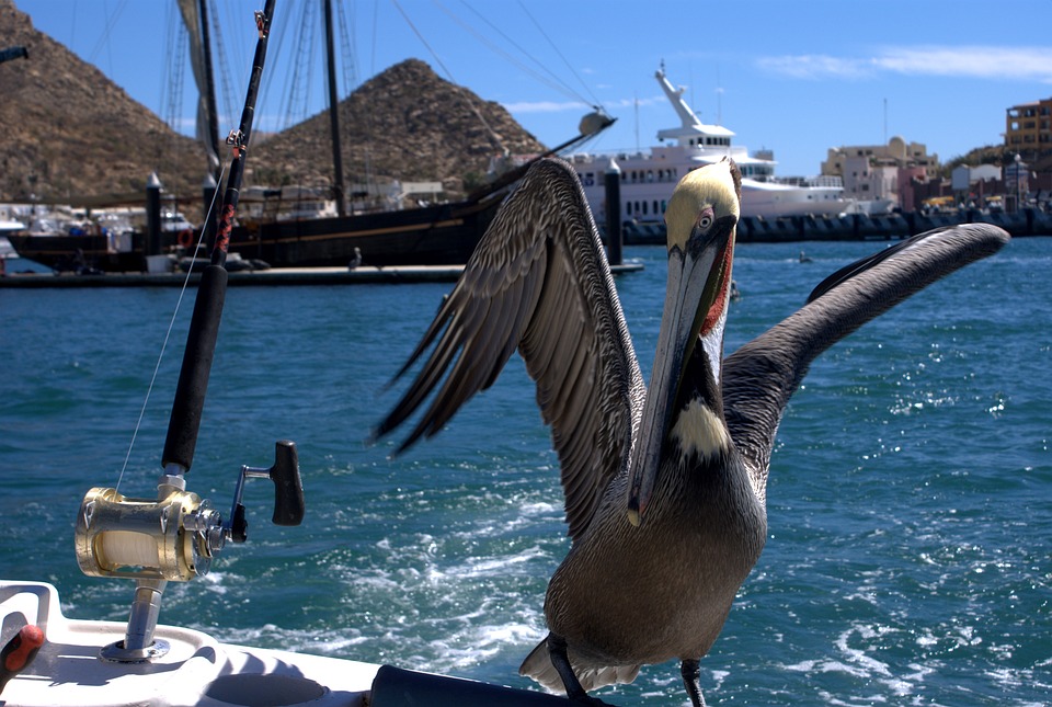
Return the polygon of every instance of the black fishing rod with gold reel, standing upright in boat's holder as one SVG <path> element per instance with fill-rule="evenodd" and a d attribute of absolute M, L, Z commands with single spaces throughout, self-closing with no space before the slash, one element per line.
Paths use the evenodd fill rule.
<path fill-rule="evenodd" d="M 167 642 L 153 638 L 164 588 L 171 580 L 188 581 L 206 574 L 213 557 L 228 540 L 243 543 L 247 539 L 248 523 L 241 503 L 247 479 L 268 478 L 274 482 L 272 520 L 275 524 L 298 525 L 304 517 L 299 460 L 296 445 L 290 441 L 276 443 L 272 467 L 241 467 L 230 515 L 226 520 L 211 508 L 208 500 L 186 491 L 185 478 L 193 465 L 219 335 L 228 281 L 227 251 L 240 198 L 274 4 L 275 0 L 266 0 L 264 10 L 254 15 L 259 38 L 252 75 L 241 123 L 227 137 L 232 158 L 219 227 L 194 303 L 161 455 L 163 471 L 158 482 L 157 498 L 128 499 L 116 489 L 94 488 L 84 497 L 77 518 L 75 539 L 81 570 L 94 577 L 136 580 L 125 639 L 102 649 L 102 658 L 106 660 L 145 662 L 168 652 Z"/>

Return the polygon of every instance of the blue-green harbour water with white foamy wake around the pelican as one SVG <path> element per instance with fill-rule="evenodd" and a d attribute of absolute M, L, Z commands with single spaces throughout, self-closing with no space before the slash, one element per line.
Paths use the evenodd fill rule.
<path fill-rule="evenodd" d="M 884 243 L 746 244 L 728 351 Z M 649 377 L 664 252 L 619 276 Z M 701 662 L 710 705 L 1044 705 L 1052 698 L 1052 238 L 918 294 L 812 366 L 778 434 L 769 537 Z M 557 460 L 517 358 L 432 441 L 366 444 L 448 285 L 231 288 L 190 489 L 225 513 L 241 464 L 299 447 L 307 517 L 170 584 L 161 623 L 522 687 L 568 548 Z M 187 299 L 133 431 L 174 289 L 0 290 L 0 574 L 68 615 L 123 620 L 132 584 L 83 577 L 83 493 L 151 497 Z M 129 451 L 130 449 L 130 451 Z M 686 704 L 675 663 L 599 695 Z"/>

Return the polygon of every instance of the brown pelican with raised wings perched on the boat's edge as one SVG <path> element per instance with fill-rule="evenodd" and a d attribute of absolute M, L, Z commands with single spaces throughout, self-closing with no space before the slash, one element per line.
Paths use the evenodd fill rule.
<path fill-rule="evenodd" d="M 668 285 L 650 391 L 574 172 L 531 168 L 398 375 L 433 351 L 375 431 L 438 388 L 401 449 L 432 435 L 517 349 L 551 426 L 572 545 L 548 585 L 549 635 L 521 672 L 588 702 L 642 664 L 699 659 L 764 547 L 782 411 L 822 351 L 942 275 L 995 252 L 1000 229 L 930 231 L 835 273 L 802 309 L 723 358 L 741 176 L 724 160 L 668 201 Z M 436 343 L 437 342 L 437 343 Z"/>

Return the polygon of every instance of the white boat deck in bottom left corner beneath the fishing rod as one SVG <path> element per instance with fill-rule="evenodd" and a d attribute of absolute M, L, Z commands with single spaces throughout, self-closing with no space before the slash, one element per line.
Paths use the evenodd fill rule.
<path fill-rule="evenodd" d="M 0 581 L 4 638 L 20 624 L 39 626 L 47 640 L 26 672 L 3 688 L 0 704 L 23 707 L 156 705 L 229 707 L 367 704 L 379 665 L 306 653 L 229 646 L 201 631 L 158 626 L 171 647 L 149 663 L 100 658 L 124 639 L 126 626 L 62 615 L 58 592 L 43 582 Z"/>

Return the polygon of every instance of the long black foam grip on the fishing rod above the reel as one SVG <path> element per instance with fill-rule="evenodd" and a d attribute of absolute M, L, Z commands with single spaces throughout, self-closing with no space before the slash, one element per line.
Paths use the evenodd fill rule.
<path fill-rule="evenodd" d="M 208 391 L 211 360 L 219 338 L 219 321 L 227 296 L 227 271 L 219 265 L 208 265 L 197 286 L 194 316 L 186 335 L 183 367 L 179 373 L 179 386 L 172 403 L 172 417 L 168 422 L 168 437 L 161 466 L 178 464 L 186 471 L 194 461 L 197 431 L 201 429 L 201 412 Z"/>

